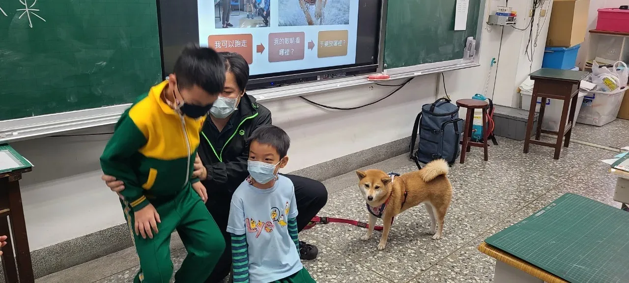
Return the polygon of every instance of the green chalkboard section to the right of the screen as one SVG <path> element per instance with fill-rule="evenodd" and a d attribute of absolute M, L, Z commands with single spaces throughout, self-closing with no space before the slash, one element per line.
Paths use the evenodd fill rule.
<path fill-rule="evenodd" d="M 469 0 L 464 31 L 454 30 L 456 3 L 457 0 L 389 1 L 384 38 L 386 68 L 463 58 L 467 37 L 476 38 L 481 0 Z"/>

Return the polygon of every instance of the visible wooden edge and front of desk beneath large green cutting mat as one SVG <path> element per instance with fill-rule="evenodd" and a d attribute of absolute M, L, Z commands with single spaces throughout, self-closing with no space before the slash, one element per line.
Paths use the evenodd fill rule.
<path fill-rule="evenodd" d="M 514 255 L 482 242 L 478 250 L 496 259 L 494 283 L 568 283 Z"/>

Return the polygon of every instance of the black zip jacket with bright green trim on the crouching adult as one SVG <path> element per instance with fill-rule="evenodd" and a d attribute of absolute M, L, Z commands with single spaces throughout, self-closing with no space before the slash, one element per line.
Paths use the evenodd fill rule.
<path fill-rule="evenodd" d="M 247 94 L 240 99 L 238 110 L 231 115 L 222 132 L 218 132 L 210 117 L 206 119 L 198 152 L 208 169 L 208 178 L 202 183 L 208 190 L 210 200 L 231 200 L 233 192 L 249 176 L 248 137 L 260 125 L 270 124 L 269 109 L 257 104 L 255 98 Z"/>

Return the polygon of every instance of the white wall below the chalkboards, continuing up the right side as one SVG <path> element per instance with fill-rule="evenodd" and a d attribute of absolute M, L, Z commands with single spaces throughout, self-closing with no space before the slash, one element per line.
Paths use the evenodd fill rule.
<path fill-rule="evenodd" d="M 520 1 L 511 1 L 520 2 Z M 528 1 L 527 1 L 528 2 Z M 504 1 L 487 0 L 486 12 Z M 511 4 L 511 3 L 509 3 Z M 519 13 L 525 9 L 515 8 Z M 550 13 L 549 13 L 550 14 Z M 521 24 L 518 24 L 521 26 Z M 523 28 L 523 26 L 521 26 Z M 511 29 L 511 28 L 505 28 Z M 494 88 L 490 79 L 487 94 L 495 93 L 498 104 L 515 101 L 516 77 L 524 68 L 524 31 L 505 31 L 499 73 L 510 73 Z M 545 32 L 543 33 L 545 36 Z M 498 57 L 501 28 L 483 29 L 481 38 L 481 67 L 445 73 L 447 90 L 453 100 L 469 98 L 482 92 L 489 71 L 489 61 Z M 515 46 L 515 51 L 505 47 Z M 545 37 L 538 39 L 542 46 Z M 525 44 L 525 43 L 524 43 Z M 511 48 L 511 47 L 509 47 Z M 543 51 L 536 51 L 542 54 Z M 514 58 L 513 60 L 508 60 Z M 534 61 L 533 67 L 541 60 Z M 495 68 L 495 67 L 494 67 Z M 526 65 L 528 70 L 528 65 Z M 495 69 L 494 69 L 495 71 Z M 495 72 L 494 72 L 495 74 Z M 353 152 L 396 141 L 410 135 L 415 116 L 421 105 L 435 100 L 436 75 L 423 75 L 398 93 L 369 107 L 349 111 L 330 111 L 309 105 L 299 98 L 263 102 L 273 112 L 274 124 L 291 136 L 291 161 L 284 172 L 294 171 Z M 395 84 L 397 82 L 390 82 Z M 308 99 L 337 107 L 363 105 L 387 95 L 392 87 L 361 86 L 340 92 L 311 95 Z M 443 87 L 440 86 L 440 95 Z M 517 105 L 515 105 L 517 106 Z M 109 132 L 111 127 L 89 132 Z M 31 250 L 64 242 L 103 230 L 124 222 L 117 196 L 100 179 L 98 158 L 109 136 L 47 137 L 12 144 L 35 164 L 32 173 L 25 174 L 23 203 Z"/>

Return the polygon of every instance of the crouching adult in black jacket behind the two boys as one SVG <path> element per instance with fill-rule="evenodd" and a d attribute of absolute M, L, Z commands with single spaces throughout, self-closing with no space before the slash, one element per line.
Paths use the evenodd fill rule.
<path fill-rule="evenodd" d="M 225 88 L 219 99 L 222 101 L 214 102 L 216 107 L 210 110 L 211 115 L 203 126 L 199 154 L 194 164 L 194 175 L 201 179 L 208 191 L 206 206 L 226 242 L 225 252 L 206 283 L 221 282 L 231 270 L 231 238 L 226 232 L 231 195 L 249 175 L 247 138 L 260 125 L 271 124 L 269 109 L 257 104 L 254 97 L 244 92 L 249 77 L 247 61 L 237 53 L 219 54 L 225 60 Z M 229 104 L 237 105 L 236 109 L 228 109 L 226 106 Z M 291 179 L 295 187 L 299 211 L 297 226 L 301 232 L 325 206 L 328 191 L 319 181 L 289 174 L 284 176 Z M 124 189 L 123 183 L 113 176 L 103 176 L 103 180 L 113 191 Z M 300 242 L 299 247 L 301 259 L 316 258 L 318 250 L 315 246 Z"/>

